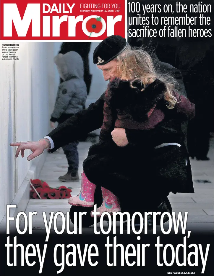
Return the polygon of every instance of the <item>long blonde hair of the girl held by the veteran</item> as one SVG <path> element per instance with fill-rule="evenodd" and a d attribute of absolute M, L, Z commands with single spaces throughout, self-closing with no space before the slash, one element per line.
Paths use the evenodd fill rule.
<path fill-rule="evenodd" d="M 173 95 L 178 82 L 169 74 L 163 74 L 155 69 L 154 63 L 150 55 L 144 50 L 130 50 L 122 52 L 117 56 L 118 72 L 121 79 L 131 79 L 130 86 L 134 88 L 133 82 L 139 81 L 146 87 L 148 84 L 159 79 L 166 85 L 164 98 L 167 107 L 173 109 L 177 99 Z M 143 89 L 142 89 L 143 91 Z"/>

